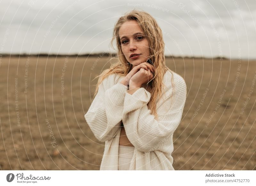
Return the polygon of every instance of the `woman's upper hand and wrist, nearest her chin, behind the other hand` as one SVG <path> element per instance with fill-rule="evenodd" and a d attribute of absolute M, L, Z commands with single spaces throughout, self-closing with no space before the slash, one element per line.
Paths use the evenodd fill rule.
<path fill-rule="evenodd" d="M 147 62 L 143 62 L 140 65 L 136 65 L 132 68 L 132 70 L 124 77 L 124 79 L 120 82 L 125 86 L 129 86 L 130 79 L 134 74 L 140 71 L 140 69 L 145 69 L 146 71 L 155 72 L 155 67 Z"/>

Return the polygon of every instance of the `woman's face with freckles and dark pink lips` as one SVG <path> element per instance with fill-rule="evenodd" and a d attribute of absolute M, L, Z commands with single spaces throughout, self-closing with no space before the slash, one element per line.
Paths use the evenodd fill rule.
<path fill-rule="evenodd" d="M 121 49 L 132 68 L 146 62 L 149 56 L 148 40 L 135 20 L 126 21 L 119 30 Z M 139 54 L 135 57 L 132 54 Z"/>

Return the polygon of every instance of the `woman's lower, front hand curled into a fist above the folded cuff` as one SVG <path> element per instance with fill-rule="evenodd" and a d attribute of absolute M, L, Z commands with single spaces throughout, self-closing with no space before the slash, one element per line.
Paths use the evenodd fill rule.
<path fill-rule="evenodd" d="M 148 83 L 154 77 L 153 73 L 148 69 L 140 68 L 139 72 L 134 74 L 130 79 L 129 89 L 141 87 L 143 84 Z"/>

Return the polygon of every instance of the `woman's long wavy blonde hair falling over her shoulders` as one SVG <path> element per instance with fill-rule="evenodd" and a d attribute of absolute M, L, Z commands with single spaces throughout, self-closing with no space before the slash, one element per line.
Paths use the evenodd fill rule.
<path fill-rule="evenodd" d="M 145 37 L 148 40 L 149 44 L 149 54 L 148 59 L 150 59 L 153 62 L 153 66 L 155 67 L 156 71 L 154 74 L 154 77 L 151 81 L 147 83 L 149 86 L 149 92 L 151 94 L 148 107 L 151 110 L 151 114 L 155 115 L 156 119 L 157 113 L 156 113 L 156 100 L 157 96 L 160 96 L 163 91 L 163 77 L 167 70 L 169 70 L 172 73 L 172 70 L 170 70 L 165 65 L 165 57 L 164 57 L 164 40 L 163 40 L 163 34 L 161 28 L 158 26 L 156 20 L 147 12 L 144 11 L 138 11 L 138 10 L 132 10 L 130 12 L 127 12 L 124 14 L 124 16 L 121 16 L 114 27 L 113 30 L 113 37 L 111 40 L 111 46 L 114 48 L 114 42 L 116 41 L 116 47 L 117 47 L 117 56 L 112 57 L 110 54 L 110 60 L 111 59 L 117 59 L 117 63 L 112 64 L 110 68 L 104 70 L 99 76 L 98 83 L 96 85 L 96 90 L 94 97 L 96 96 L 98 92 L 98 88 L 100 83 L 103 81 L 104 78 L 106 78 L 110 74 L 119 74 L 121 76 L 126 76 L 131 70 L 132 70 L 132 64 L 130 64 L 122 52 L 121 49 L 121 41 L 119 37 L 119 30 L 122 24 L 129 20 L 136 20 L 138 25 L 140 26 L 141 30 L 144 32 Z M 95 77 L 95 78 L 97 78 Z M 95 79 L 94 78 L 94 79 Z M 172 73 L 172 85 L 173 83 L 173 73 Z M 153 88 L 154 87 L 154 88 Z"/>

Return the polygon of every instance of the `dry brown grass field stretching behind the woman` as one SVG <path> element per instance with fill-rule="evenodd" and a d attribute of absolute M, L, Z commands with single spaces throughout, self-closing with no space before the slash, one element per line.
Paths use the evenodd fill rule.
<path fill-rule="evenodd" d="M 107 57 L 1 57 L 1 170 L 99 170 L 84 114 Z M 175 170 L 256 170 L 256 61 L 167 58 L 187 84 Z M 248 98 L 247 98 L 248 97 Z"/>

